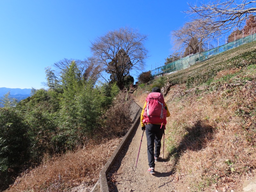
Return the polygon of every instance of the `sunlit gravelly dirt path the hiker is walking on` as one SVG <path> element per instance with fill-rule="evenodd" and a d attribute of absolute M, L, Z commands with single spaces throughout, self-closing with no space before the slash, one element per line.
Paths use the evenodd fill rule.
<path fill-rule="evenodd" d="M 143 104 L 138 104 L 143 107 Z M 142 130 L 140 123 L 138 123 L 111 171 L 108 173 L 109 180 L 112 181 L 111 191 L 175 191 L 171 184 L 173 175 L 170 164 L 168 166 L 167 162 L 160 160 L 160 162 L 156 162 L 156 174 L 152 175 L 147 172 L 148 156 L 145 132 L 142 138 L 137 168 L 134 171 L 141 136 Z M 167 155 L 167 151 L 164 154 Z M 163 147 L 161 148 L 160 157 L 163 157 Z"/>

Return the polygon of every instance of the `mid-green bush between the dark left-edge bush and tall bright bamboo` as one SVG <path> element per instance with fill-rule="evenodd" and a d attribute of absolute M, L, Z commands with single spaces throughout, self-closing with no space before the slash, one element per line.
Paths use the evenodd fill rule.
<path fill-rule="evenodd" d="M 28 124 L 31 162 L 38 163 L 45 153 L 52 155 L 55 152 L 56 148 L 51 141 L 57 134 L 59 103 L 60 96 L 57 92 L 39 89 L 17 105 Z"/>

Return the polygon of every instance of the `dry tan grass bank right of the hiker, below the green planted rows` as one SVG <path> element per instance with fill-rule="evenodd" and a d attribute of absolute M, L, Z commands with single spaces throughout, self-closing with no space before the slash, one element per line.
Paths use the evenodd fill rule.
<path fill-rule="evenodd" d="M 178 191 L 237 190 L 255 174 L 255 90 L 255 81 L 241 87 L 222 84 L 212 93 L 168 105 L 167 137 L 168 145 L 176 143 L 170 152 L 178 153 L 171 158 Z"/>

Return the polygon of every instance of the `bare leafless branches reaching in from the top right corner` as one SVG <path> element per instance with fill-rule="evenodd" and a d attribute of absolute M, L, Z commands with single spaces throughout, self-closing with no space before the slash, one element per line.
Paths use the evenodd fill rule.
<path fill-rule="evenodd" d="M 191 5 L 186 13 L 192 14 L 195 21 L 204 20 L 208 36 L 226 33 L 234 26 L 239 26 L 256 13 L 256 1 L 248 0 L 213 0 L 209 3 Z"/>

